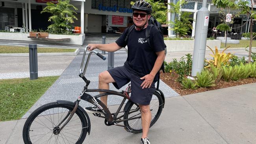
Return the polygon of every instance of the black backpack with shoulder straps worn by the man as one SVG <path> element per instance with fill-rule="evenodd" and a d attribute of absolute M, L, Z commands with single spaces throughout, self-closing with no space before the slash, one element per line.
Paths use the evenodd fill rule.
<path fill-rule="evenodd" d="M 163 29 L 162 29 L 162 26 L 160 24 L 160 22 L 158 22 L 154 17 L 150 17 L 150 19 L 148 20 L 148 26 L 147 26 L 147 30 L 146 30 L 146 33 L 145 33 L 145 39 L 147 40 L 147 43 L 151 46 L 150 44 L 150 39 L 148 39 L 150 37 L 150 31 L 151 31 L 151 28 L 156 26 L 158 28 L 158 30 L 161 32 L 162 34 L 162 37 L 163 37 Z M 132 25 L 129 27 L 129 30 L 128 30 L 128 33 L 126 35 L 126 38 L 124 39 L 124 41 L 127 41 L 128 39 L 128 36 L 129 34 L 131 33 L 131 31 L 134 29 L 135 25 Z M 166 50 L 166 45 L 165 45 L 165 55 L 167 53 L 167 50 Z M 162 70 L 163 72 L 165 72 L 165 65 L 164 63 L 162 64 L 160 70 Z M 157 83 L 157 88 L 159 88 L 159 79 L 160 79 L 160 76 L 158 77 L 158 83 Z"/>

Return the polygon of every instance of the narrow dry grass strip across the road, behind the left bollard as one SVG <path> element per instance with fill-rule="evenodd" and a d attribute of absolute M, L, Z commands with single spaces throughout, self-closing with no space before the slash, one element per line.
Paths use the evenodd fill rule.
<path fill-rule="evenodd" d="M 67 48 L 37 48 L 37 53 L 52 52 L 75 52 L 76 49 Z M 25 46 L 0 46 L 0 54 L 29 53 L 28 47 Z"/>

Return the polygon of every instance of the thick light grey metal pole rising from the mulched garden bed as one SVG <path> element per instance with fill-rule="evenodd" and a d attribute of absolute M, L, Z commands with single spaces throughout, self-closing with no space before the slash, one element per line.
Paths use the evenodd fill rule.
<path fill-rule="evenodd" d="M 210 16 L 210 11 L 206 7 L 206 3 L 207 0 L 203 0 L 202 8 L 197 12 L 195 44 L 191 73 L 192 76 L 196 76 L 197 72 L 201 72 L 204 68 L 206 38 Z"/>

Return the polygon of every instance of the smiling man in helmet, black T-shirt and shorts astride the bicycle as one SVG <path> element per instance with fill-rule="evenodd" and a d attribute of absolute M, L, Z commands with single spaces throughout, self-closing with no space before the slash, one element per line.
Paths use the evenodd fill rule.
<path fill-rule="evenodd" d="M 161 31 L 157 27 L 150 30 L 150 44 L 145 38 L 148 26 L 148 19 L 152 12 L 152 7 L 144 0 L 136 1 L 132 6 L 133 22 L 135 28 L 129 32 L 129 28 L 124 30 L 121 37 L 110 44 L 88 44 L 88 50 L 104 50 L 115 52 L 122 47 L 128 46 L 128 57 L 124 66 L 112 68 L 99 74 L 99 89 L 109 89 L 109 83 L 120 89 L 131 81 L 132 93 L 130 99 L 139 104 L 141 109 L 142 137 L 141 144 L 150 144 L 148 131 L 151 122 L 150 100 L 156 90 L 155 83 L 159 77 L 159 70 L 165 58 L 165 44 Z M 101 97 L 101 101 L 107 105 L 107 96 Z M 88 113 L 101 113 L 96 106 L 86 107 Z"/>

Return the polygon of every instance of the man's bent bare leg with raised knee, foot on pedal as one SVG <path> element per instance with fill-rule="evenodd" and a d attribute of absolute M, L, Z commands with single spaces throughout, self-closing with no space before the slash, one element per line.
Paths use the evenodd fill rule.
<path fill-rule="evenodd" d="M 104 71 L 99 74 L 99 89 L 109 89 L 109 83 L 113 82 L 115 82 L 115 80 L 112 78 L 108 71 Z M 104 92 L 100 92 L 100 94 L 102 93 Z M 100 101 L 102 101 L 106 106 L 108 106 L 108 96 L 100 97 Z"/>

